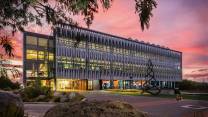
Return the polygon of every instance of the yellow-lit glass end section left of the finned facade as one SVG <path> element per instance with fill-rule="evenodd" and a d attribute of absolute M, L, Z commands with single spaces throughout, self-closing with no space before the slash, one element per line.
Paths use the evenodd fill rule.
<path fill-rule="evenodd" d="M 24 37 L 24 77 L 28 81 L 37 78 L 45 80 L 48 85 L 55 77 L 55 48 L 52 37 L 26 33 Z M 48 80 L 48 81 L 46 81 Z M 42 81 L 43 82 L 43 81 Z M 54 83 L 52 83 L 54 85 Z M 52 86 L 50 84 L 50 86 Z"/>

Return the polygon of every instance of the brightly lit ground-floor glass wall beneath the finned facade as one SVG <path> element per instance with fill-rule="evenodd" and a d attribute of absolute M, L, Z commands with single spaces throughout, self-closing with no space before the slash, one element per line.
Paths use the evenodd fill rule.
<path fill-rule="evenodd" d="M 32 86 L 38 80 L 27 80 L 27 86 Z M 54 79 L 40 80 L 41 86 L 51 87 L 56 91 L 76 91 L 76 90 L 105 90 L 105 89 L 141 89 L 144 80 L 87 80 L 87 79 Z M 56 86 L 55 86 L 56 85 Z M 176 86 L 175 82 L 158 81 L 157 85 L 161 88 L 172 89 Z"/>

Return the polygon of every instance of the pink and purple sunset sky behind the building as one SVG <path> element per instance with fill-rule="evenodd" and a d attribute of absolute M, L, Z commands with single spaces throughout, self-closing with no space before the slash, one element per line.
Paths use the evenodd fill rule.
<path fill-rule="evenodd" d="M 208 81 L 208 0 L 157 0 L 150 28 L 141 31 L 134 0 L 114 0 L 108 11 L 95 15 L 91 29 L 159 44 L 183 52 L 183 78 Z M 75 17 L 86 27 L 81 17 Z M 45 25 L 27 30 L 52 34 Z M 22 56 L 22 34 L 16 34 L 15 53 Z"/>

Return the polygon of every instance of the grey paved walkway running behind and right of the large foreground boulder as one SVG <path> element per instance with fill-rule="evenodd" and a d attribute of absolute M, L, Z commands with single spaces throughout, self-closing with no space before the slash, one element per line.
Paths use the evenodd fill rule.
<path fill-rule="evenodd" d="M 208 117 L 208 101 L 182 100 L 145 97 L 124 96 L 106 92 L 83 93 L 88 100 L 121 100 L 133 105 L 138 110 L 148 112 L 150 117 Z M 30 117 L 42 117 L 44 113 L 55 104 L 38 103 L 25 104 L 25 112 Z"/>

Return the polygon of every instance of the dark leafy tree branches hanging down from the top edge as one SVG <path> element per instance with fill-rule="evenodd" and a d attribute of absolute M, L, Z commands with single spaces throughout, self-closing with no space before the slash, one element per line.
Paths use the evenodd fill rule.
<path fill-rule="evenodd" d="M 29 23 L 50 25 L 65 22 L 78 23 L 74 15 L 84 16 L 89 27 L 98 12 L 99 4 L 104 10 L 111 7 L 113 0 L 0 0 L 0 30 L 9 28 L 12 33 L 24 31 Z M 140 18 L 142 30 L 149 27 L 152 10 L 156 8 L 155 0 L 135 0 L 135 9 Z"/>

